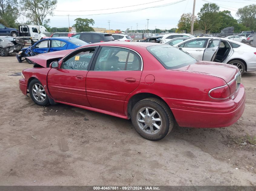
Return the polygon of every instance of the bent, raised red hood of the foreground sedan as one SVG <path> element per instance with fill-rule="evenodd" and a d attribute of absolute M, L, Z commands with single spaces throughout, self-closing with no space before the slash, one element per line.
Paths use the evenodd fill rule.
<path fill-rule="evenodd" d="M 40 66 L 43 66 L 44 68 L 48 68 L 51 62 L 56 61 L 58 59 L 62 59 L 71 51 L 73 51 L 73 49 L 43 53 L 43 54 L 38 54 L 36 56 L 30 56 L 28 59 L 32 60 L 33 62 L 37 63 Z"/>

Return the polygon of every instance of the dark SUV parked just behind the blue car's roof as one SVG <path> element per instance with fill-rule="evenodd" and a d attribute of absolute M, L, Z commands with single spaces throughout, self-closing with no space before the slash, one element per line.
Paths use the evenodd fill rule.
<path fill-rule="evenodd" d="M 112 37 L 112 34 L 97 33 L 97 32 L 81 32 L 73 35 L 72 37 L 83 40 L 86 43 L 99 43 L 99 42 L 115 40 Z"/>

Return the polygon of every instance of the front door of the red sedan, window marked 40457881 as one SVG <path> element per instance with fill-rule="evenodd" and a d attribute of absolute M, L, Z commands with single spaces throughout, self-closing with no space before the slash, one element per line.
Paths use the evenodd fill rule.
<path fill-rule="evenodd" d="M 59 68 L 48 72 L 48 90 L 55 100 L 90 107 L 85 85 L 95 49 L 79 49 L 64 58 Z"/>

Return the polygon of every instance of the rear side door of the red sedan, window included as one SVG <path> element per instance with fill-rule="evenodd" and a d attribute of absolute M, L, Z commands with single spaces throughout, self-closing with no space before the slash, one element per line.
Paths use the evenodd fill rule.
<path fill-rule="evenodd" d="M 124 113 L 125 98 L 141 78 L 141 57 L 125 48 L 102 46 L 86 76 L 86 92 L 92 107 Z"/>

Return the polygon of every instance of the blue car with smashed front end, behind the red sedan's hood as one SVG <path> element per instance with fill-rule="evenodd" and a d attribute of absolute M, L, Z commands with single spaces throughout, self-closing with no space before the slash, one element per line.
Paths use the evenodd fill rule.
<path fill-rule="evenodd" d="M 33 62 L 28 59 L 29 56 L 35 56 L 37 54 L 54 52 L 58 50 L 75 49 L 86 44 L 88 43 L 73 37 L 47 38 L 38 41 L 28 48 L 21 49 L 16 57 L 20 63 L 26 60 L 28 63 L 32 64 Z"/>

